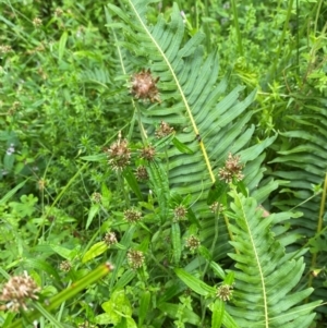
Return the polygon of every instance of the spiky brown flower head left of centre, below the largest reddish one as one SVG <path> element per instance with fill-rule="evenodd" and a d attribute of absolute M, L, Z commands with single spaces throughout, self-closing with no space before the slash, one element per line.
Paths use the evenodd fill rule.
<path fill-rule="evenodd" d="M 128 147 L 128 141 L 121 138 L 121 134 L 119 134 L 118 141 L 105 153 L 109 158 L 109 165 L 116 171 L 124 169 L 130 163 L 131 149 Z"/>

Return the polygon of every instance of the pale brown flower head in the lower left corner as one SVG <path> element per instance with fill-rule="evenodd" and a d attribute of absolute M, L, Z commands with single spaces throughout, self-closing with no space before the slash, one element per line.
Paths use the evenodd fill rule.
<path fill-rule="evenodd" d="M 0 301 L 7 302 L 7 308 L 12 312 L 17 312 L 20 308 L 27 311 L 27 300 L 38 300 L 37 293 L 40 288 L 27 275 L 11 277 L 10 280 L 2 287 Z"/>

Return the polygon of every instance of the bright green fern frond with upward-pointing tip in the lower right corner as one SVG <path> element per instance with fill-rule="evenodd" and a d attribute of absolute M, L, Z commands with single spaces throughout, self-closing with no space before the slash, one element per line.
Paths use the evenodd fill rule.
<path fill-rule="evenodd" d="M 283 246 L 274 238 L 270 226 L 275 215 L 262 218 L 254 198 L 231 192 L 230 242 L 237 254 L 229 254 L 235 262 L 235 287 L 232 305 L 227 306 L 240 327 L 280 328 L 310 327 L 319 302 L 299 305 L 312 288 L 293 291 L 304 271 L 303 258 L 289 259 Z M 278 219 L 279 221 L 279 219 Z"/>

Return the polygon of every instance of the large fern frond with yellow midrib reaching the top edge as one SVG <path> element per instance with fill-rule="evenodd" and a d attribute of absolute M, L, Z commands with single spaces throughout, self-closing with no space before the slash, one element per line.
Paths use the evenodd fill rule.
<path fill-rule="evenodd" d="M 133 60 L 135 71 L 128 73 L 132 75 L 146 68 L 154 77 L 160 77 L 161 104 L 141 104 L 141 123 L 147 135 L 153 134 L 160 121 L 172 124 L 177 138 L 192 149 L 193 154 L 182 154 L 175 147 L 167 150 L 169 187 L 182 197 L 192 196 L 192 209 L 202 218 L 202 239 L 211 248 L 216 240 L 215 217 L 206 199 L 217 179 L 217 168 L 222 167 L 228 153 L 240 155 L 246 165 L 244 171 L 249 173 L 244 184 L 256 191 L 263 178 L 263 151 L 276 137 L 253 143 L 255 127 L 249 124 L 253 114 L 249 106 L 255 92 L 244 97 L 243 87 L 239 86 L 227 93 L 229 74 L 218 82 L 217 52 L 205 56 L 201 32 L 185 41 L 184 23 L 177 4 L 170 22 L 159 15 L 156 25 L 152 26 L 147 23 L 145 10 L 152 1 L 126 0 L 125 3 L 129 10 L 124 12 L 113 4 L 108 4 L 108 8 L 126 23 L 125 39 L 119 42 L 119 47 L 130 44 L 130 58 L 124 60 Z M 269 181 L 265 192 L 257 193 L 259 201 L 264 201 L 274 189 L 276 184 Z M 223 226 L 223 221 L 219 224 Z M 221 248 L 214 245 L 217 256 L 226 255 L 226 247 L 229 247 L 226 229 L 219 228 L 217 247 Z"/>

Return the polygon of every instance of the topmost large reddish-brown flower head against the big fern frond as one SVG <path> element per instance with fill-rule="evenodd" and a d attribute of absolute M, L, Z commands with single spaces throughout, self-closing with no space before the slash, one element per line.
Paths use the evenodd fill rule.
<path fill-rule="evenodd" d="M 131 94 L 136 99 L 150 100 L 152 102 L 161 102 L 157 82 L 159 77 L 154 78 L 150 70 L 142 70 L 132 76 Z"/>

